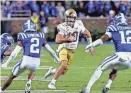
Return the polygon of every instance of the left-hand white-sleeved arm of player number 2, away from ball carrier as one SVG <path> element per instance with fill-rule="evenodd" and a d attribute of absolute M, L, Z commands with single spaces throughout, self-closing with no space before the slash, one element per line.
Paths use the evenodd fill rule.
<path fill-rule="evenodd" d="M 15 49 L 9 56 L 8 60 L 3 64 L 3 67 L 6 67 L 11 62 L 11 60 L 14 59 L 18 55 L 21 49 L 22 49 L 22 43 L 18 41 L 17 46 L 15 47 Z"/>

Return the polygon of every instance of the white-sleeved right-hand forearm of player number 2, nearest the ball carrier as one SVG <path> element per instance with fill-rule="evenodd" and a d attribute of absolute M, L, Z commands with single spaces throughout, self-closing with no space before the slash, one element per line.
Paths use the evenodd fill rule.
<path fill-rule="evenodd" d="M 44 47 L 55 58 L 57 62 L 60 62 L 60 59 L 58 58 L 57 54 L 54 52 L 54 50 L 50 47 L 50 45 L 47 42 L 44 44 Z"/>

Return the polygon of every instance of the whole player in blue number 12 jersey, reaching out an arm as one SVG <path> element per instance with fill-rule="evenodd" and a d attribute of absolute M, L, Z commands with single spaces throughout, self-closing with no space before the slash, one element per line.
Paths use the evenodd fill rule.
<path fill-rule="evenodd" d="M 128 25 L 127 17 L 123 13 L 119 13 L 114 17 L 113 25 L 109 25 L 106 33 L 92 44 L 86 46 L 86 51 L 93 46 L 103 44 L 103 42 L 113 40 L 115 46 L 115 53 L 100 64 L 100 66 L 93 73 L 88 85 L 80 93 L 90 93 L 94 83 L 100 78 L 105 70 L 112 69 L 102 93 L 107 93 L 110 89 L 112 81 L 116 77 L 118 70 L 131 68 L 131 26 Z"/>

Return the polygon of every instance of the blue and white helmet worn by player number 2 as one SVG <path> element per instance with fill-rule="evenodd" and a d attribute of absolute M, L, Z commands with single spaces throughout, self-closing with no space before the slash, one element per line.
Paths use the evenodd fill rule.
<path fill-rule="evenodd" d="M 22 30 L 24 32 L 36 32 L 36 24 L 29 19 L 24 23 Z"/>

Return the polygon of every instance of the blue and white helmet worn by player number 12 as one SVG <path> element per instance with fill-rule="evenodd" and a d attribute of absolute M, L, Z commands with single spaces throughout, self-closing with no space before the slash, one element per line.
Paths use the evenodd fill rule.
<path fill-rule="evenodd" d="M 128 19 L 123 13 L 117 14 L 113 20 L 114 25 L 128 25 Z"/>

